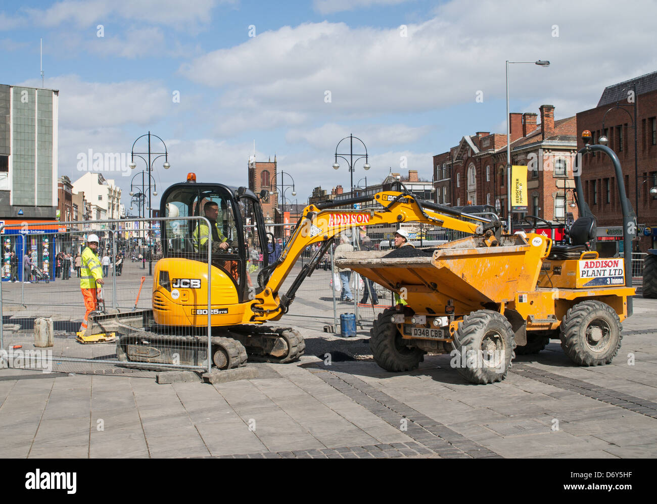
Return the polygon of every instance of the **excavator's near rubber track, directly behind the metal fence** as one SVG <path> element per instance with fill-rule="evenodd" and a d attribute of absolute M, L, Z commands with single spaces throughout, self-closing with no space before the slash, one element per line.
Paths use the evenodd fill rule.
<path fill-rule="evenodd" d="M 244 345 L 233 338 L 212 337 L 213 366 L 235 369 L 246 366 L 248 358 Z M 170 370 L 171 367 L 139 367 L 139 363 L 180 364 L 181 366 L 207 366 L 207 336 L 160 335 L 139 331 L 124 335 L 116 344 L 116 355 L 122 366 L 147 371 Z"/>

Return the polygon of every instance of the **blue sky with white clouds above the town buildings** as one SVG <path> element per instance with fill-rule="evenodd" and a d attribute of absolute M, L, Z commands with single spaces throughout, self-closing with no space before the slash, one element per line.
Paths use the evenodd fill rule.
<path fill-rule="evenodd" d="M 89 0 L 3 2 L 0 83 L 59 91 L 59 175 L 93 154 L 124 153 L 150 131 L 158 194 L 188 172 L 248 185 L 248 159 L 277 156 L 291 202 L 314 187 L 349 190 L 336 145 L 365 159 L 354 186 L 409 169 L 477 131 L 506 133 L 511 112 L 594 108 L 604 87 L 657 70 L 657 3 L 632 1 Z M 145 138 L 135 152 L 147 150 Z M 152 151 L 164 152 L 154 139 Z M 355 144 L 354 154 L 365 148 Z M 348 141 L 339 153 L 349 152 Z M 89 161 L 89 162 L 87 162 Z M 137 169 L 97 165 L 130 206 Z M 134 179 L 141 184 L 141 175 Z M 281 175 L 278 177 L 281 184 Z M 296 200 L 296 201 L 295 201 Z M 152 207 L 158 207 L 158 198 Z"/>

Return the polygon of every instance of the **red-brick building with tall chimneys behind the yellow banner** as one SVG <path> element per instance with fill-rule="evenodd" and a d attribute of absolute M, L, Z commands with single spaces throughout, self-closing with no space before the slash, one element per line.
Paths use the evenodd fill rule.
<path fill-rule="evenodd" d="M 555 121 L 555 108 L 542 105 L 537 114 L 509 114 L 511 163 L 528 165 L 528 214 L 546 221 L 577 218 L 572 169 L 576 117 Z M 461 138 L 449 151 L 434 156 L 436 202 L 463 206 L 491 205 L 507 215 L 507 135 L 479 131 Z M 514 214 L 514 220 L 518 214 Z"/>

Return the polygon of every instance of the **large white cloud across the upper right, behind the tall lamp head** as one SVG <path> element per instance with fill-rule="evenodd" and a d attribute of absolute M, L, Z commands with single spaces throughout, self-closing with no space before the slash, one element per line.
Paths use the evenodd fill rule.
<path fill-rule="evenodd" d="M 657 4 L 643 3 L 639 19 L 633 9 L 601 1 L 597 21 L 581 23 L 592 5 L 512 1 L 502 9 L 452 1 L 435 18 L 409 24 L 407 37 L 399 28 L 326 21 L 284 26 L 194 58 L 179 72 L 220 88 L 219 106 L 229 115 L 285 110 L 338 121 L 474 104 L 478 91 L 485 104 L 504 100 L 505 59 L 547 59 L 549 68 L 512 65 L 512 100 L 558 95 L 580 108 L 594 106 L 601 83 L 654 69 L 657 56 L 649 47 Z M 600 39 L 599 26 L 615 26 L 623 37 Z"/>

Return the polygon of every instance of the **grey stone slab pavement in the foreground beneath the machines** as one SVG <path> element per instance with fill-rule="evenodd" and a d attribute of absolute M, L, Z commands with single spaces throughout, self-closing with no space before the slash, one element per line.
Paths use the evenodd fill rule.
<path fill-rule="evenodd" d="M 368 356 L 365 331 L 344 340 L 321 318 L 292 324 L 300 316 L 281 325 L 302 332 L 306 356 L 250 364 L 255 377 L 229 383 L 158 384 L 154 372 L 106 364 L 0 369 L 0 455 L 654 458 L 657 301 L 635 306 L 612 365 L 574 366 L 552 341 L 486 386 L 466 383 L 449 356 L 388 373 Z M 344 355 L 327 365 L 336 349 Z"/>

